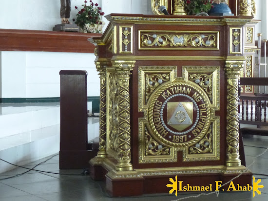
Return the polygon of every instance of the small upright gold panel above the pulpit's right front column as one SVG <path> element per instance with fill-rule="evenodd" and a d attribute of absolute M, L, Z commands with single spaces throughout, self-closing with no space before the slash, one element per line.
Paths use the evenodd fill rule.
<path fill-rule="evenodd" d="M 242 28 L 230 27 L 230 54 L 242 54 Z"/>

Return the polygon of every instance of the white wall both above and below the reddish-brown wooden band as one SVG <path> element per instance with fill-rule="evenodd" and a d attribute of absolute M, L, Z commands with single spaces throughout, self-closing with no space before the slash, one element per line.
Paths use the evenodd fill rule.
<path fill-rule="evenodd" d="M 89 0 L 87 0 L 89 4 Z M 93 0 L 110 13 L 152 14 L 151 0 Z M 72 0 L 76 18 L 84 0 Z M 52 31 L 60 23 L 60 0 L 0 0 L 0 28 Z M 106 20 L 106 19 L 104 19 Z M 108 21 L 106 20 L 105 27 Z M 88 72 L 88 96 L 99 96 L 94 54 L 0 51 L 0 98 L 59 97 L 59 71 Z"/>

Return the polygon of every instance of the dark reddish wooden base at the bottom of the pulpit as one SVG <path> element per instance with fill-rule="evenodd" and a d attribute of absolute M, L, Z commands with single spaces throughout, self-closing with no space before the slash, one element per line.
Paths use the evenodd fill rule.
<path fill-rule="evenodd" d="M 104 162 L 104 166 L 108 167 L 108 163 L 110 163 L 110 160 L 105 160 L 107 161 Z M 201 167 L 200 167 L 201 168 Z M 110 168 L 109 168 L 110 169 Z M 243 169 L 243 168 L 242 168 Z M 185 170 L 189 171 L 189 168 L 185 168 Z M 162 170 L 165 171 L 165 170 Z M 190 170 L 191 171 L 191 170 Z M 224 184 L 234 177 L 236 177 L 238 174 L 237 173 L 232 173 L 234 170 L 230 170 L 230 173 L 203 173 L 203 174 L 168 174 L 168 175 L 151 175 L 150 172 L 147 171 L 146 173 L 143 173 L 142 177 L 138 177 L 139 174 L 136 173 L 133 175 L 131 171 L 125 172 L 125 173 L 119 173 L 118 171 L 110 170 L 110 173 L 119 173 L 119 178 L 111 178 L 109 175 L 107 175 L 108 168 L 103 168 L 100 165 L 90 165 L 90 176 L 93 180 L 100 181 L 100 180 L 106 180 L 106 190 L 111 196 L 115 197 L 126 197 L 126 196 L 139 196 L 143 194 L 153 194 L 153 193 L 165 193 L 168 194 L 169 191 L 172 188 L 168 188 L 167 184 L 172 184 L 170 181 L 170 178 L 175 181 L 175 177 L 177 176 L 177 194 L 178 196 L 180 193 L 185 193 L 189 192 L 191 193 L 194 191 L 194 186 L 199 186 L 200 189 L 202 186 L 204 188 L 206 186 L 209 191 L 199 191 L 200 193 L 209 193 L 211 191 L 214 191 L 216 189 L 216 183 L 217 181 L 221 181 L 218 184 Z M 138 171 L 140 172 L 140 171 Z M 194 171 L 192 171 L 194 172 Z M 133 177 L 129 177 L 129 176 Z M 147 176 L 148 174 L 148 176 Z M 136 176 L 136 177 L 135 177 Z M 182 182 L 182 189 L 184 186 L 186 186 L 189 190 L 185 191 L 179 191 L 179 182 L 178 181 L 183 181 Z M 192 187 L 188 187 L 189 186 Z M 251 172 L 246 172 L 243 173 L 238 179 L 233 180 L 233 185 L 237 189 L 237 186 L 252 186 L 252 173 Z M 230 187 L 230 188 L 229 188 Z M 228 191 L 233 191 L 232 185 L 230 186 L 230 183 L 226 184 L 225 186 L 219 188 L 220 192 L 229 192 Z M 199 190 L 199 189 L 198 189 Z M 175 191 L 174 191 L 175 193 Z M 173 194 L 174 194 L 173 193 Z M 179 197 L 178 197 L 179 198 Z"/>

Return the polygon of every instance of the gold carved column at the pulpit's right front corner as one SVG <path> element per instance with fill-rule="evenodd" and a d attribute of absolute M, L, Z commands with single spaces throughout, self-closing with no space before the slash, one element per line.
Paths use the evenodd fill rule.
<path fill-rule="evenodd" d="M 241 166 L 239 158 L 239 98 L 238 82 L 244 61 L 226 61 L 225 76 L 227 78 L 227 166 Z"/>

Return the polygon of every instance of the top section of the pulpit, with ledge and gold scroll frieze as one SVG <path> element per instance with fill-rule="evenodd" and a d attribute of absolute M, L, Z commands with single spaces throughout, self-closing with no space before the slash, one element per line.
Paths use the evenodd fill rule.
<path fill-rule="evenodd" d="M 244 57 L 243 26 L 252 16 L 165 16 L 142 14 L 110 14 L 110 21 L 101 37 L 90 38 L 95 48 L 95 62 L 138 60 L 139 56 L 156 57 L 217 57 L 216 60 Z M 254 23 L 252 21 L 252 23 Z M 239 51 L 230 33 L 239 29 Z M 164 40 L 164 42 L 157 41 Z M 163 36 L 163 37 L 162 37 Z M 204 37 L 205 38 L 200 38 Z M 170 38 L 171 37 L 171 38 Z M 196 37 L 199 41 L 196 42 Z M 195 42 L 194 42 L 195 40 Z M 147 41 L 149 42 L 147 44 Z M 211 42 L 210 42 L 211 41 Z M 209 42 L 210 44 L 207 44 Z M 201 44 L 202 43 L 202 44 Z M 236 48 L 236 47 L 235 47 Z M 232 50 L 233 49 L 233 50 Z M 208 53 L 209 51 L 209 53 Z M 143 58 L 144 59 L 144 58 Z M 196 58 L 197 59 L 197 58 Z M 111 64 L 111 63 L 110 63 Z"/>

